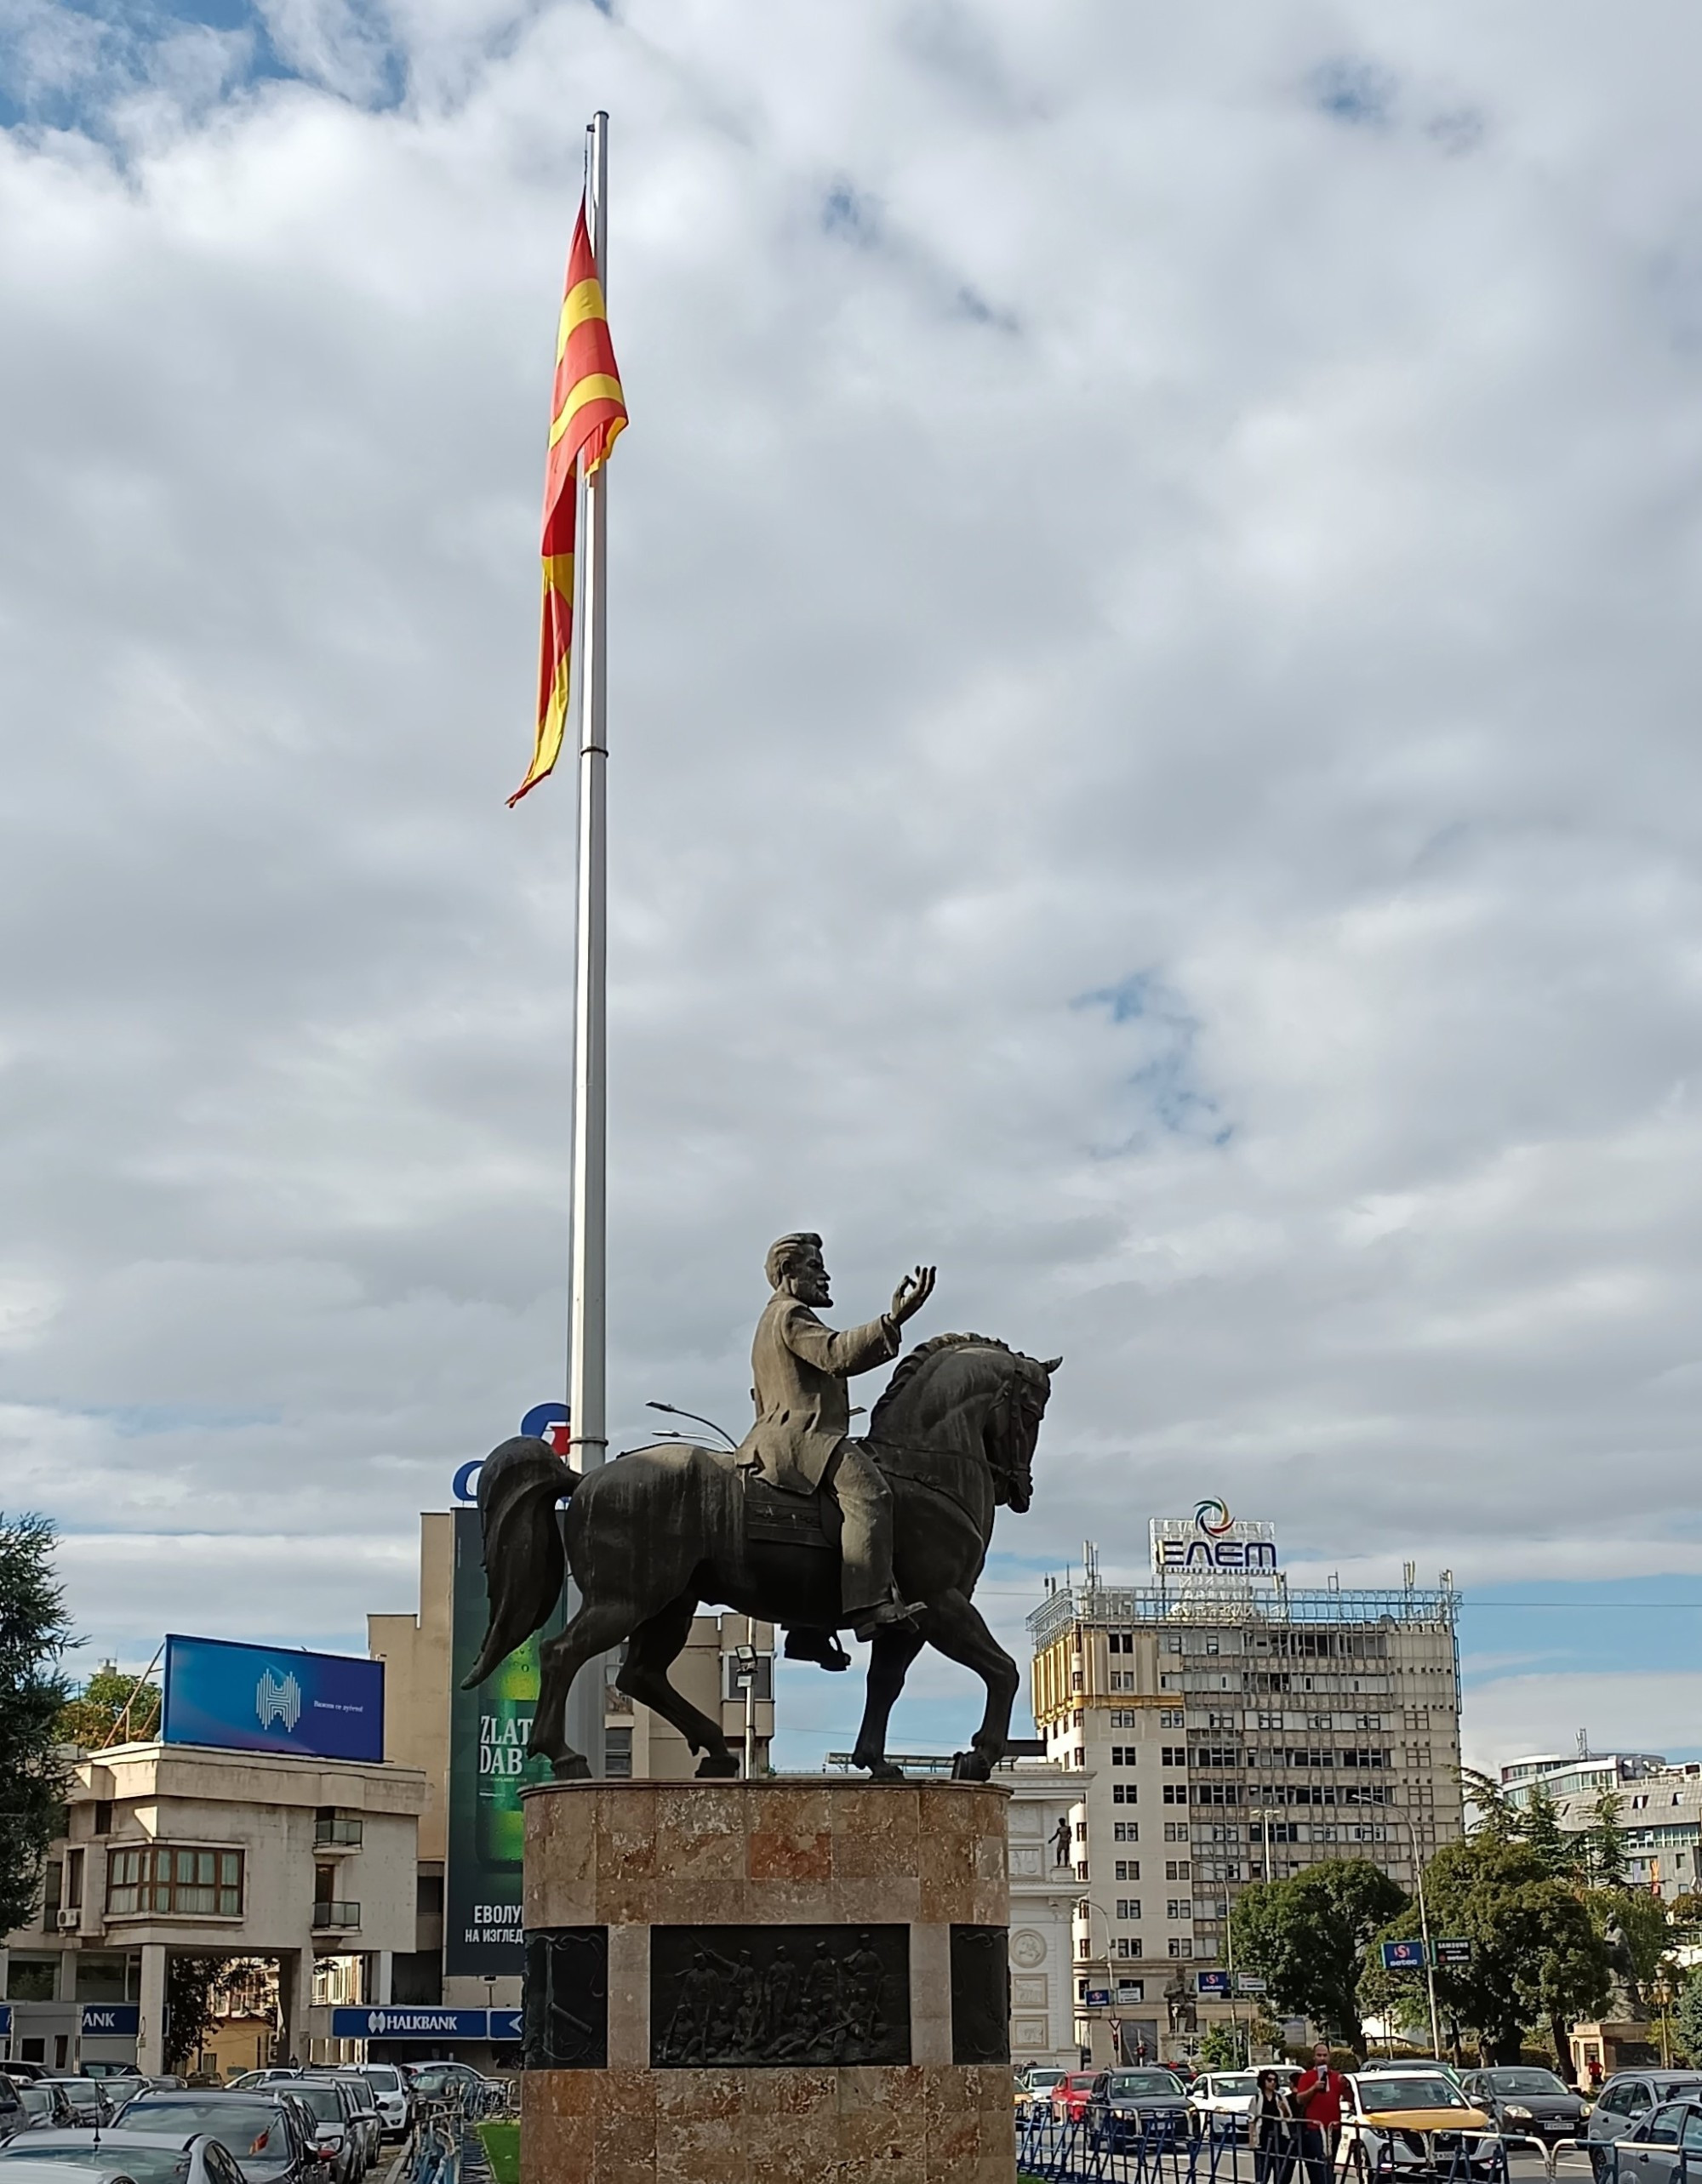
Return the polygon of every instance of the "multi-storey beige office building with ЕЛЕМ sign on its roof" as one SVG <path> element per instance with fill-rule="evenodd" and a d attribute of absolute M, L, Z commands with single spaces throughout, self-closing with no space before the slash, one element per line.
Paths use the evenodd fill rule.
<path fill-rule="evenodd" d="M 1230 2014 L 1197 1974 L 1232 1974 L 1250 1883 L 1370 1859 L 1411 1889 L 1414 1861 L 1464 1830 L 1446 1577 L 1346 1592 L 1197 1575 L 1160 1562 L 1158 1527 L 1154 1564 L 1151 1586 L 1101 1586 L 1090 1553 L 1088 1581 L 1029 1616 L 1036 1725 L 1082 1782 L 1073 1998 L 1095 2062 L 1186 2055 Z"/>

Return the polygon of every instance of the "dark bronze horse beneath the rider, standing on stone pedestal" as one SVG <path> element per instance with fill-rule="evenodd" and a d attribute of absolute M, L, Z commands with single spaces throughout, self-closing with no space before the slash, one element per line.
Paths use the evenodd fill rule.
<path fill-rule="evenodd" d="M 953 1773 L 985 1782 L 1005 1754 L 1020 1677 L 972 1594 L 998 1505 L 1020 1514 L 1033 1496 L 1033 1446 L 1060 1363 L 985 1334 L 935 1334 L 900 1358 L 867 1439 L 852 1444 L 891 1492 L 894 1575 L 911 1605 L 907 1621 L 872 1640 L 852 1760 L 874 1780 L 902 1780 L 887 1758 L 887 1719 L 924 1645 L 964 1662 L 988 1690 L 981 1728 Z M 568 1570 L 579 1590 L 562 1636 L 540 1647 L 531 1756 L 548 1758 L 557 1780 L 590 1773 L 568 1743 L 566 1717 L 572 1679 L 601 1653 L 625 1642 L 618 1688 L 704 1754 L 701 1778 L 736 1776 L 721 1723 L 669 1682 L 699 1603 L 795 1629 L 835 1631 L 846 1621 L 832 1498 L 778 1492 L 732 1450 L 662 1441 L 581 1474 L 522 1435 L 485 1459 L 478 1511 L 489 1631 L 465 1688 L 544 1627 Z"/>

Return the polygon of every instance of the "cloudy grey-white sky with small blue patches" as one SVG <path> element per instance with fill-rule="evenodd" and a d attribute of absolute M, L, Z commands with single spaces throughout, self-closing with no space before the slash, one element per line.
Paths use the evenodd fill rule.
<path fill-rule="evenodd" d="M 503 799 L 603 105 L 616 1446 L 743 1417 L 773 1234 L 931 1258 L 1066 1354 L 1012 1642 L 1221 1494 L 1455 1572 L 1477 1758 L 1702 1752 L 1698 68 L 0 0 L 0 1498 L 79 1660 L 358 1645 L 559 1389 L 572 795 Z"/>

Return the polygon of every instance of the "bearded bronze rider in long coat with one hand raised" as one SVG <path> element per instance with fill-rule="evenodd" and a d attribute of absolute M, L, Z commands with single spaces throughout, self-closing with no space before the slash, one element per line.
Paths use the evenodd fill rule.
<path fill-rule="evenodd" d="M 933 1267 L 907 1273 L 891 1310 L 843 1334 L 815 1317 L 817 1304 L 832 1304 L 819 1236 L 782 1236 L 769 1249 L 767 1275 L 773 1295 L 752 1345 L 756 1424 L 738 1461 L 789 1494 L 822 1487 L 839 1503 L 841 1614 L 859 1638 L 872 1638 L 883 1625 L 909 1623 L 915 1607 L 891 1577 L 891 1489 L 846 1437 L 846 1380 L 898 1356 L 900 1326 L 933 1295 Z"/>

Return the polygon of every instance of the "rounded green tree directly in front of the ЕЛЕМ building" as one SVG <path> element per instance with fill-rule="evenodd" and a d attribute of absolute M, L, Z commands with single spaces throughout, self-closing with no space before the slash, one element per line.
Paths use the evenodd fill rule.
<path fill-rule="evenodd" d="M 1405 1894 L 1370 1859 L 1328 1859 L 1291 1880 L 1256 1880 L 1230 1911 L 1234 1961 L 1263 1974 L 1269 1998 L 1366 2053 L 1359 1974 L 1372 1937 Z"/>

